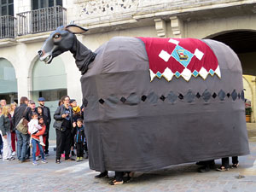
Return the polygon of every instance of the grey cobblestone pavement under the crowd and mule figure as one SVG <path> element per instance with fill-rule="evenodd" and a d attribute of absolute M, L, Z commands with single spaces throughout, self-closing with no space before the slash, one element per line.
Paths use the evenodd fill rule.
<path fill-rule="evenodd" d="M 255 125 L 255 124 L 254 124 Z M 254 126 L 253 125 L 253 126 Z M 256 128 L 256 126 L 255 126 Z M 256 129 L 255 129 L 256 131 Z M 51 143 L 52 145 L 54 143 Z M 239 157 L 240 166 L 228 172 L 197 172 L 195 163 L 169 166 L 157 172 L 136 172 L 130 183 L 108 185 L 109 179 L 96 179 L 98 172 L 90 170 L 88 160 L 61 161 L 55 164 L 55 152 L 50 148 L 48 164 L 32 160 L 19 164 L 17 160 L 0 160 L 0 191 L 256 191 L 256 141 L 250 138 L 251 154 Z M 220 160 L 216 160 L 220 166 Z M 113 172 L 110 172 L 113 177 Z"/>

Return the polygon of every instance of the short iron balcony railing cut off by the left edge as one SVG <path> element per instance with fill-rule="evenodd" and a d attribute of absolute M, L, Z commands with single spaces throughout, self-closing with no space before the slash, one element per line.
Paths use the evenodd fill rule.
<path fill-rule="evenodd" d="M 14 16 L 5 15 L 0 17 L 0 39 L 15 38 L 15 23 Z"/>

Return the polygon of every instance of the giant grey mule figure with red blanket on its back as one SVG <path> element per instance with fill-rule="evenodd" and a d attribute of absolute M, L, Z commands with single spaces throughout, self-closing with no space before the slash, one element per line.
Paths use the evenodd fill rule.
<path fill-rule="evenodd" d="M 241 63 L 228 46 L 118 37 L 94 53 L 77 40 L 75 34 L 83 32 L 61 26 L 38 54 L 49 64 L 70 50 L 82 72 L 91 169 L 148 171 L 249 153 Z M 158 69 L 160 63 L 169 67 Z"/>

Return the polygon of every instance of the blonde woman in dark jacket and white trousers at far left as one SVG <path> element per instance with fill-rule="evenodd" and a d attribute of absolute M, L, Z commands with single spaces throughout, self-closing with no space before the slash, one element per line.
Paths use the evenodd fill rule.
<path fill-rule="evenodd" d="M 12 148 L 11 148 L 11 115 L 10 115 L 10 107 L 6 105 L 3 107 L 1 117 L 0 117 L 0 132 L 3 139 L 3 160 L 15 160 L 12 157 Z"/>

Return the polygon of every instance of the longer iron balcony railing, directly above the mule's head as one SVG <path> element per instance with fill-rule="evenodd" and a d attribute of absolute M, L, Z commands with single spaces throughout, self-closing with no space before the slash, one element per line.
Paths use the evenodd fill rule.
<path fill-rule="evenodd" d="M 66 25 L 67 9 L 55 6 L 17 14 L 18 35 L 49 32 Z"/>

